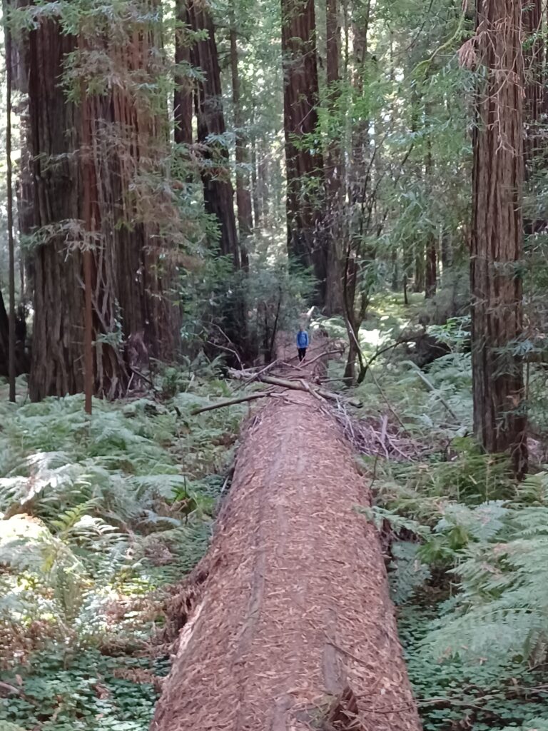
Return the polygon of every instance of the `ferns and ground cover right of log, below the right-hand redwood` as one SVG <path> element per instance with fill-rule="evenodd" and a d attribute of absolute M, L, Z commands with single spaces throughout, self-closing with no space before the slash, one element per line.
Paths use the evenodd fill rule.
<path fill-rule="evenodd" d="M 547 728 L 548 472 L 516 485 L 471 439 L 376 472 L 367 512 L 425 730 Z"/>

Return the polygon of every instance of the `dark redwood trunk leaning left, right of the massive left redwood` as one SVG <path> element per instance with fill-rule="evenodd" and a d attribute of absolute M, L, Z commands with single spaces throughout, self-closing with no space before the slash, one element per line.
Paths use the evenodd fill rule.
<path fill-rule="evenodd" d="M 192 65 L 201 69 L 203 79 L 196 94 L 198 141 L 206 143 L 210 135 L 224 135 L 224 113 L 221 91 L 221 70 L 218 64 L 217 45 L 210 10 L 205 1 L 189 0 L 191 29 L 207 34 L 191 48 Z M 221 254 L 232 257 L 235 269 L 240 268 L 240 248 L 234 215 L 234 193 L 229 175 L 227 146 L 208 143 L 208 164 L 204 166 L 205 209 L 216 216 L 219 224 Z"/>

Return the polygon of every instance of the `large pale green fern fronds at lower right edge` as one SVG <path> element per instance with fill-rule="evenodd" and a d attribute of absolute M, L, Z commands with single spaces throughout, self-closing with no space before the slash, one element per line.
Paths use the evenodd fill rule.
<path fill-rule="evenodd" d="M 477 524 L 476 524 L 477 525 Z M 506 510 L 460 553 L 456 603 L 427 637 L 435 656 L 544 659 L 548 640 L 548 508 Z"/>

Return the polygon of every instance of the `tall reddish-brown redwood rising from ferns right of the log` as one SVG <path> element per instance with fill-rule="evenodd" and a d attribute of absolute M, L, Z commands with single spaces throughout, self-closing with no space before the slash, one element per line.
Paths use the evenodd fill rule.
<path fill-rule="evenodd" d="M 521 3 L 480 0 L 476 53 L 487 73 L 478 94 L 471 241 L 474 429 L 489 452 L 527 466 L 522 364 Z"/>

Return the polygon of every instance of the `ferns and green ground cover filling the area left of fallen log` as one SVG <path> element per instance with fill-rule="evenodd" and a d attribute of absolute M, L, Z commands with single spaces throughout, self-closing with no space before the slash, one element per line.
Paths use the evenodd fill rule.
<path fill-rule="evenodd" d="M 213 369 L 159 390 L 91 418 L 80 395 L 0 405 L 0 731 L 148 729 L 166 591 L 208 547 L 247 413 L 191 416 L 231 394 Z"/>

